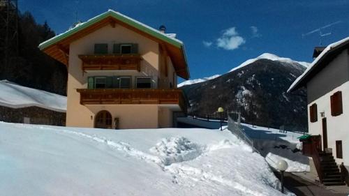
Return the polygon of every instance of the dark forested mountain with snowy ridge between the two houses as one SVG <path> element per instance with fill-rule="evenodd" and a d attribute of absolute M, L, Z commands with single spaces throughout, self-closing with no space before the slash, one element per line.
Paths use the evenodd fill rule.
<path fill-rule="evenodd" d="M 262 54 L 219 77 L 181 86 L 188 97 L 190 114 L 214 114 L 218 107 L 242 112 L 246 123 L 288 130 L 305 130 L 306 92 L 287 93 L 307 63 L 274 54 Z"/>

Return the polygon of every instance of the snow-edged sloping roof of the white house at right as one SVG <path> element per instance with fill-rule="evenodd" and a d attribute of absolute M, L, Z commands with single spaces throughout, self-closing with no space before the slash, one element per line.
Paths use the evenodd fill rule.
<path fill-rule="evenodd" d="M 328 45 L 325 50 L 323 50 L 318 57 L 311 63 L 311 65 L 300 75 L 295 82 L 293 82 L 288 89 L 288 93 L 295 91 L 302 86 L 306 85 L 306 82 L 311 80 L 311 78 L 320 72 L 322 68 L 328 65 L 329 61 L 335 58 L 336 54 L 339 54 L 343 50 L 346 50 L 349 46 L 349 37 L 339 40 L 336 43 Z"/>

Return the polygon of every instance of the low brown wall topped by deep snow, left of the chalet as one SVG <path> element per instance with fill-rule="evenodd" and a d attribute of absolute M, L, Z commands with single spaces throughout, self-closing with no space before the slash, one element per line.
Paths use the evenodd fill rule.
<path fill-rule="evenodd" d="M 0 80 L 0 121 L 64 126 L 66 97 Z"/>

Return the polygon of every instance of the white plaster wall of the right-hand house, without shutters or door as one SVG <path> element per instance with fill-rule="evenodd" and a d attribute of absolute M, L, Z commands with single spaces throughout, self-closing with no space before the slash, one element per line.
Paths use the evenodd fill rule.
<path fill-rule="evenodd" d="M 346 59 L 346 58 L 343 58 L 343 59 Z M 336 64 L 336 62 L 338 64 Z M 331 66 L 332 68 L 329 68 Z M 318 93 L 323 91 L 322 88 L 324 89 L 329 88 L 329 86 L 331 85 L 325 84 L 325 83 L 331 83 L 332 81 L 336 80 L 336 77 L 332 75 L 335 73 L 335 70 L 332 70 L 332 69 L 342 70 L 345 73 L 346 68 L 343 68 L 343 66 L 347 66 L 348 68 L 349 66 L 348 61 L 346 61 L 346 63 L 343 63 L 342 61 L 340 63 L 339 61 L 333 61 L 331 65 L 327 66 L 326 69 L 322 70 L 318 75 L 316 75 L 313 78 L 313 80 L 311 80 L 309 84 L 307 84 L 309 97 L 314 98 L 313 93 Z M 325 73 L 326 70 L 328 70 L 328 75 L 326 75 Z M 342 77 L 345 77 L 345 75 L 343 74 Z M 330 96 L 332 96 L 333 93 L 335 93 L 336 91 L 342 91 L 343 114 L 339 116 L 332 116 Z M 313 103 L 316 103 L 318 107 L 318 121 L 311 123 L 309 107 Z M 348 166 L 349 165 L 349 129 L 348 129 L 349 82 L 348 81 L 327 91 L 327 93 L 322 95 L 320 98 L 317 98 L 311 101 L 308 105 L 309 133 L 311 135 L 321 135 L 322 137 L 322 117 L 320 115 L 320 112 L 325 112 L 325 117 L 327 119 L 328 148 L 332 148 L 332 153 L 334 155 L 334 158 L 336 159 L 337 164 L 344 163 L 344 165 Z M 336 140 L 342 140 L 343 158 L 336 158 Z"/>

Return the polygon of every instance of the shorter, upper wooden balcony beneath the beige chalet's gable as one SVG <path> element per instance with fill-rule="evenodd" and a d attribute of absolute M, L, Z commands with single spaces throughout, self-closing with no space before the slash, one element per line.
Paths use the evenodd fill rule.
<path fill-rule="evenodd" d="M 80 54 L 82 70 L 138 70 L 140 54 Z"/>

